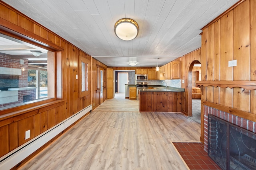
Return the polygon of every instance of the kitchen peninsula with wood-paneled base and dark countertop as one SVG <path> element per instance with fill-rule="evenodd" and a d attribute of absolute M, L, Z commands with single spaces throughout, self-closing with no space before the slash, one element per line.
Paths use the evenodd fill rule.
<path fill-rule="evenodd" d="M 148 88 L 139 91 L 140 111 L 181 112 L 184 88 Z"/>

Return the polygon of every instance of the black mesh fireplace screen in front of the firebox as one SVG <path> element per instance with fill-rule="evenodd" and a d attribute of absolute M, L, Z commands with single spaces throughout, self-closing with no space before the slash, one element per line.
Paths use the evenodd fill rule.
<path fill-rule="evenodd" d="M 256 134 L 209 115 L 208 155 L 222 169 L 256 170 Z"/>

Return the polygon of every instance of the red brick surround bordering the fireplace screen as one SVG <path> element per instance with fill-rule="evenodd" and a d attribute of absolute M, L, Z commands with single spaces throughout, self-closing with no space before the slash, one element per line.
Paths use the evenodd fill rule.
<path fill-rule="evenodd" d="M 256 133 L 256 122 L 244 119 L 242 117 L 238 117 L 236 115 L 232 115 L 230 113 L 226 113 L 218 109 L 214 109 L 209 106 L 204 106 L 203 113 L 204 113 L 204 149 L 205 150 L 208 150 L 208 115 L 209 114 L 219 117 L 220 119 L 228 121 L 239 127 L 242 127 L 243 129 Z"/>

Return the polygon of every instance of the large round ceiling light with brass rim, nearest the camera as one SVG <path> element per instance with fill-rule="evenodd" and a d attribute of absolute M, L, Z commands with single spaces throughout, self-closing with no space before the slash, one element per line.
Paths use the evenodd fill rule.
<path fill-rule="evenodd" d="M 138 32 L 138 24 L 130 18 L 122 18 L 115 23 L 115 34 L 122 40 L 132 40 L 137 37 Z"/>

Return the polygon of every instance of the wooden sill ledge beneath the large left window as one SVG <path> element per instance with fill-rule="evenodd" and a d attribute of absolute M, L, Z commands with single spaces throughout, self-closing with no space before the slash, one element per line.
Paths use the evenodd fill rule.
<path fill-rule="evenodd" d="M 64 103 L 65 103 L 65 100 L 55 100 L 53 102 L 48 102 L 46 104 L 32 106 L 32 107 L 20 109 L 20 110 L 17 110 L 17 111 L 13 111 L 13 112 L 10 112 L 10 113 L 2 114 L 2 115 L 0 115 L 0 121 L 2 121 L 4 119 L 8 119 L 10 117 L 14 117 L 14 116 L 17 116 L 17 115 L 21 115 L 21 114 L 24 114 L 24 113 L 31 112 L 31 111 L 34 111 L 36 109 L 38 109 L 38 110 L 40 109 L 40 111 L 44 111 L 46 109 L 51 109 L 51 108 L 54 108 L 56 106 L 64 105 Z"/>

